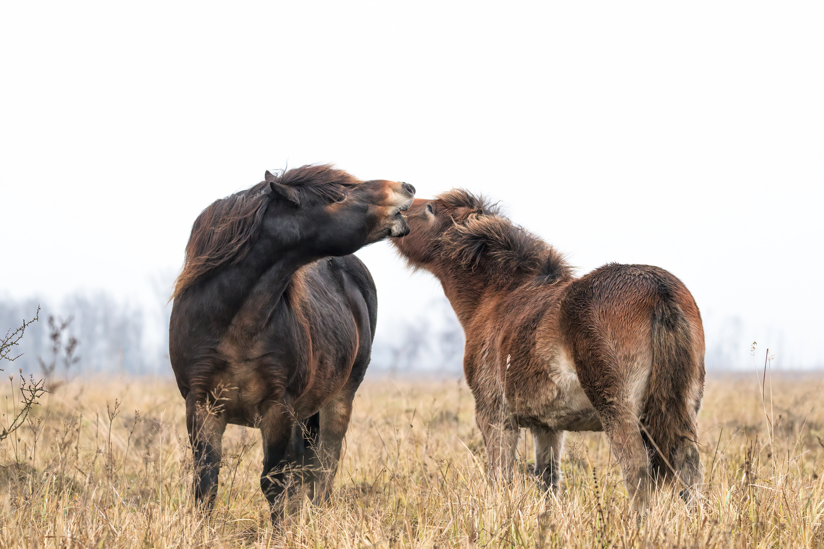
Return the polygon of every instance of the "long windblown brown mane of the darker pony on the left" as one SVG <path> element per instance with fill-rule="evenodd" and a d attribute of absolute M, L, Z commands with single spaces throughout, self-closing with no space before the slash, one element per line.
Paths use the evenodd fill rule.
<path fill-rule="evenodd" d="M 250 244 L 260 233 L 272 198 L 270 182 L 288 185 L 298 193 L 312 193 L 330 202 L 342 198 L 344 188 L 361 183 L 330 164 L 304 165 L 277 175 L 267 172 L 266 180 L 259 184 L 215 200 L 194 220 L 173 299 L 204 273 L 246 257 Z"/>

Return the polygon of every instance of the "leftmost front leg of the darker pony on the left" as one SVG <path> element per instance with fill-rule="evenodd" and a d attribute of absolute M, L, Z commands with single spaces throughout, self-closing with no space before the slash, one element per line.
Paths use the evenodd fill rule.
<path fill-rule="evenodd" d="M 218 495 L 218 473 L 226 419 L 208 399 L 186 398 L 186 429 L 194 461 L 194 499 L 211 510 Z"/>

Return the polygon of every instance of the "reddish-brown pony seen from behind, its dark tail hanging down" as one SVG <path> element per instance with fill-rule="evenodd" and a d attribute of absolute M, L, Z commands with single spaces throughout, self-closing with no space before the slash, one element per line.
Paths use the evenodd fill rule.
<path fill-rule="evenodd" d="M 461 321 L 493 468 L 511 474 L 528 427 L 535 472 L 556 489 L 564 431 L 603 430 L 634 509 L 654 482 L 673 478 L 691 501 L 704 331 L 681 281 L 616 263 L 574 277 L 555 249 L 464 190 L 415 200 L 407 221 L 410 235 L 391 242 L 438 277 Z"/>

